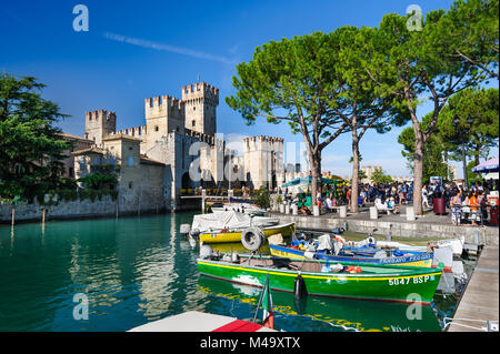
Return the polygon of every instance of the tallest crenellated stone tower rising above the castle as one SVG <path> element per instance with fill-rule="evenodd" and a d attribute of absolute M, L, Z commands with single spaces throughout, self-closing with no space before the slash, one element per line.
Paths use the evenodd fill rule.
<path fill-rule="evenodd" d="M 182 88 L 186 110 L 186 128 L 199 133 L 214 135 L 217 132 L 216 108 L 219 89 L 200 82 Z"/>

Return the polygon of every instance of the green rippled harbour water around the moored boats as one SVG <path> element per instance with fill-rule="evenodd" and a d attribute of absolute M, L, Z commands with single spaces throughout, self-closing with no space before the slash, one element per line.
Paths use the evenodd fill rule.
<path fill-rule="evenodd" d="M 259 290 L 200 277 L 198 247 L 177 231 L 192 214 L 0 226 L 0 331 L 127 331 L 184 311 L 253 317 Z M 76 294 L 89 301 L 76 320 Z M 74 301 L 73 301 L 74 300 Z M 423 307 L 273 293 L 284 331 L 440 331 Z M 452 313 L 456 302 L 437 301 Z"/>

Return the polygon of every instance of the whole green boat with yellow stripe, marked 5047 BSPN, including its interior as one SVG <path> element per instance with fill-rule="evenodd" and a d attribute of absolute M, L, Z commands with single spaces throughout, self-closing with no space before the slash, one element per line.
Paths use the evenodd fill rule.
<path fill-rule="evenodd" d="M 240 255 L 233 261 L 220 256 L 198 259 L 202 275 L 262 287 L 269 274 L 271 290 L 294 292 L 303 280 L 309 295 L 430 304 L 441 277 L 441 269 L 398 265 L 360 265 L 336 262 L 339 272 L 324 272 L 324 261 L 289 260 Z M 333 265 L 333 264 L 331 264 Z M 348 273 L 346 271 L 360 271 Z"/>

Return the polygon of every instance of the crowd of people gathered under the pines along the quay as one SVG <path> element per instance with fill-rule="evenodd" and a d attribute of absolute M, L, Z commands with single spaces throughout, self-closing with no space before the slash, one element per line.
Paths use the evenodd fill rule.
<path fill-rule="evenodd" d="M 443 199 L 446 208 L 450 210 L 453 225 L 460 225 L 462 220 L 468 220 L 472 225 L 478 225 L 488 219 L 487 195 L 490 191 L 498 190 L 498 180 L 472 182 L 468 190 L 464 190 L 462 184 L 453 182 L 429 182 L 422 186 L 422 206 L 430 209 L 434 199 Z M 298 205 L 299 213 L 311 214 L 309 188 L 293 195 L 288 188 L 278 189 L 276 192 L 283 199 L 292 200 Z M 374 205 L 379 211 L 399 213 L 401 204 L 413 202 L 413 183 L 361 183 L 358 195 L 358 205 L 360 206 Z M 324 184 L 318 192 L 317 201 L 318 206 L 324 206 L 326 210 L 332 210 L 340 205 L 348 205 L 349 208 L 351 186 L 347 183 Z"/>

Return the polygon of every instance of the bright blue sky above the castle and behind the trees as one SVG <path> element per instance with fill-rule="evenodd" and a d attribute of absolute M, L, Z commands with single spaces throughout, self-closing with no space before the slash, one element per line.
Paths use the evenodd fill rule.
<path fill-rule="evenodd" d="M 181 97 L 181 87 L 201 81 L 220 88 L 218 131 L 224 135 L 278 135 L 301 142 L 286 123 L 260 120 L 247 127 L 223 98 L 234 93 L 236 64 L 251 59 L 270 40 L 344 24 L 377 26 L 383 14 L 406 13 L 417 3 L 423 12 L 452 1 L 27 1 L 2 0 L 0 70 L 33 75 L 48 84 L 43 97 L 71 118 L 64 132 L 82 135 L 84 112 L 107 109 L 118 115 L 117 129 L 144 124 L 144 98 Z M 76 32 L 73 7 L 89 9 L 89 31 Z M 496 83 L 498 87 L 498 82 Z M 422 104 L 423 115 L 431 109 Z M 366 134 L 362 165 L 382 165 L 389 174 L 410 174 L 397 136 Z M 350 136 L 342 135 L 323 152 L 323 170 L 350 175 Z M 458 164 L 457 164 L 458 165 Z M 460 170 L 460 169 L 459 169 Z M 460 174 L 460 172 L 459 172 Z"/>

